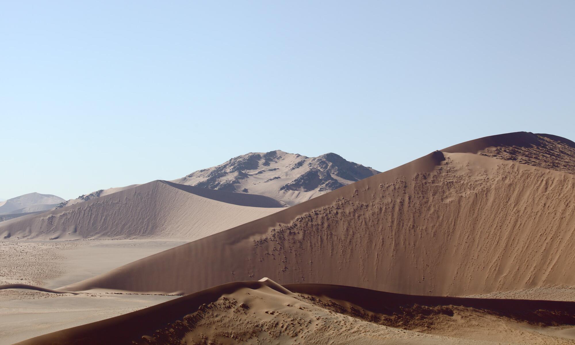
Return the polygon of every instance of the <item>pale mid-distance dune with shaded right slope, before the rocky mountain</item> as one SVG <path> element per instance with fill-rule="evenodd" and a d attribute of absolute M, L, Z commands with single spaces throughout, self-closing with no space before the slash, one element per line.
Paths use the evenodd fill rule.
<path fill-rule="evenodd" d="M 281 209 L 272 198 L 153 181 L 0 223 L 9 239 L 195 240 Z"/>

